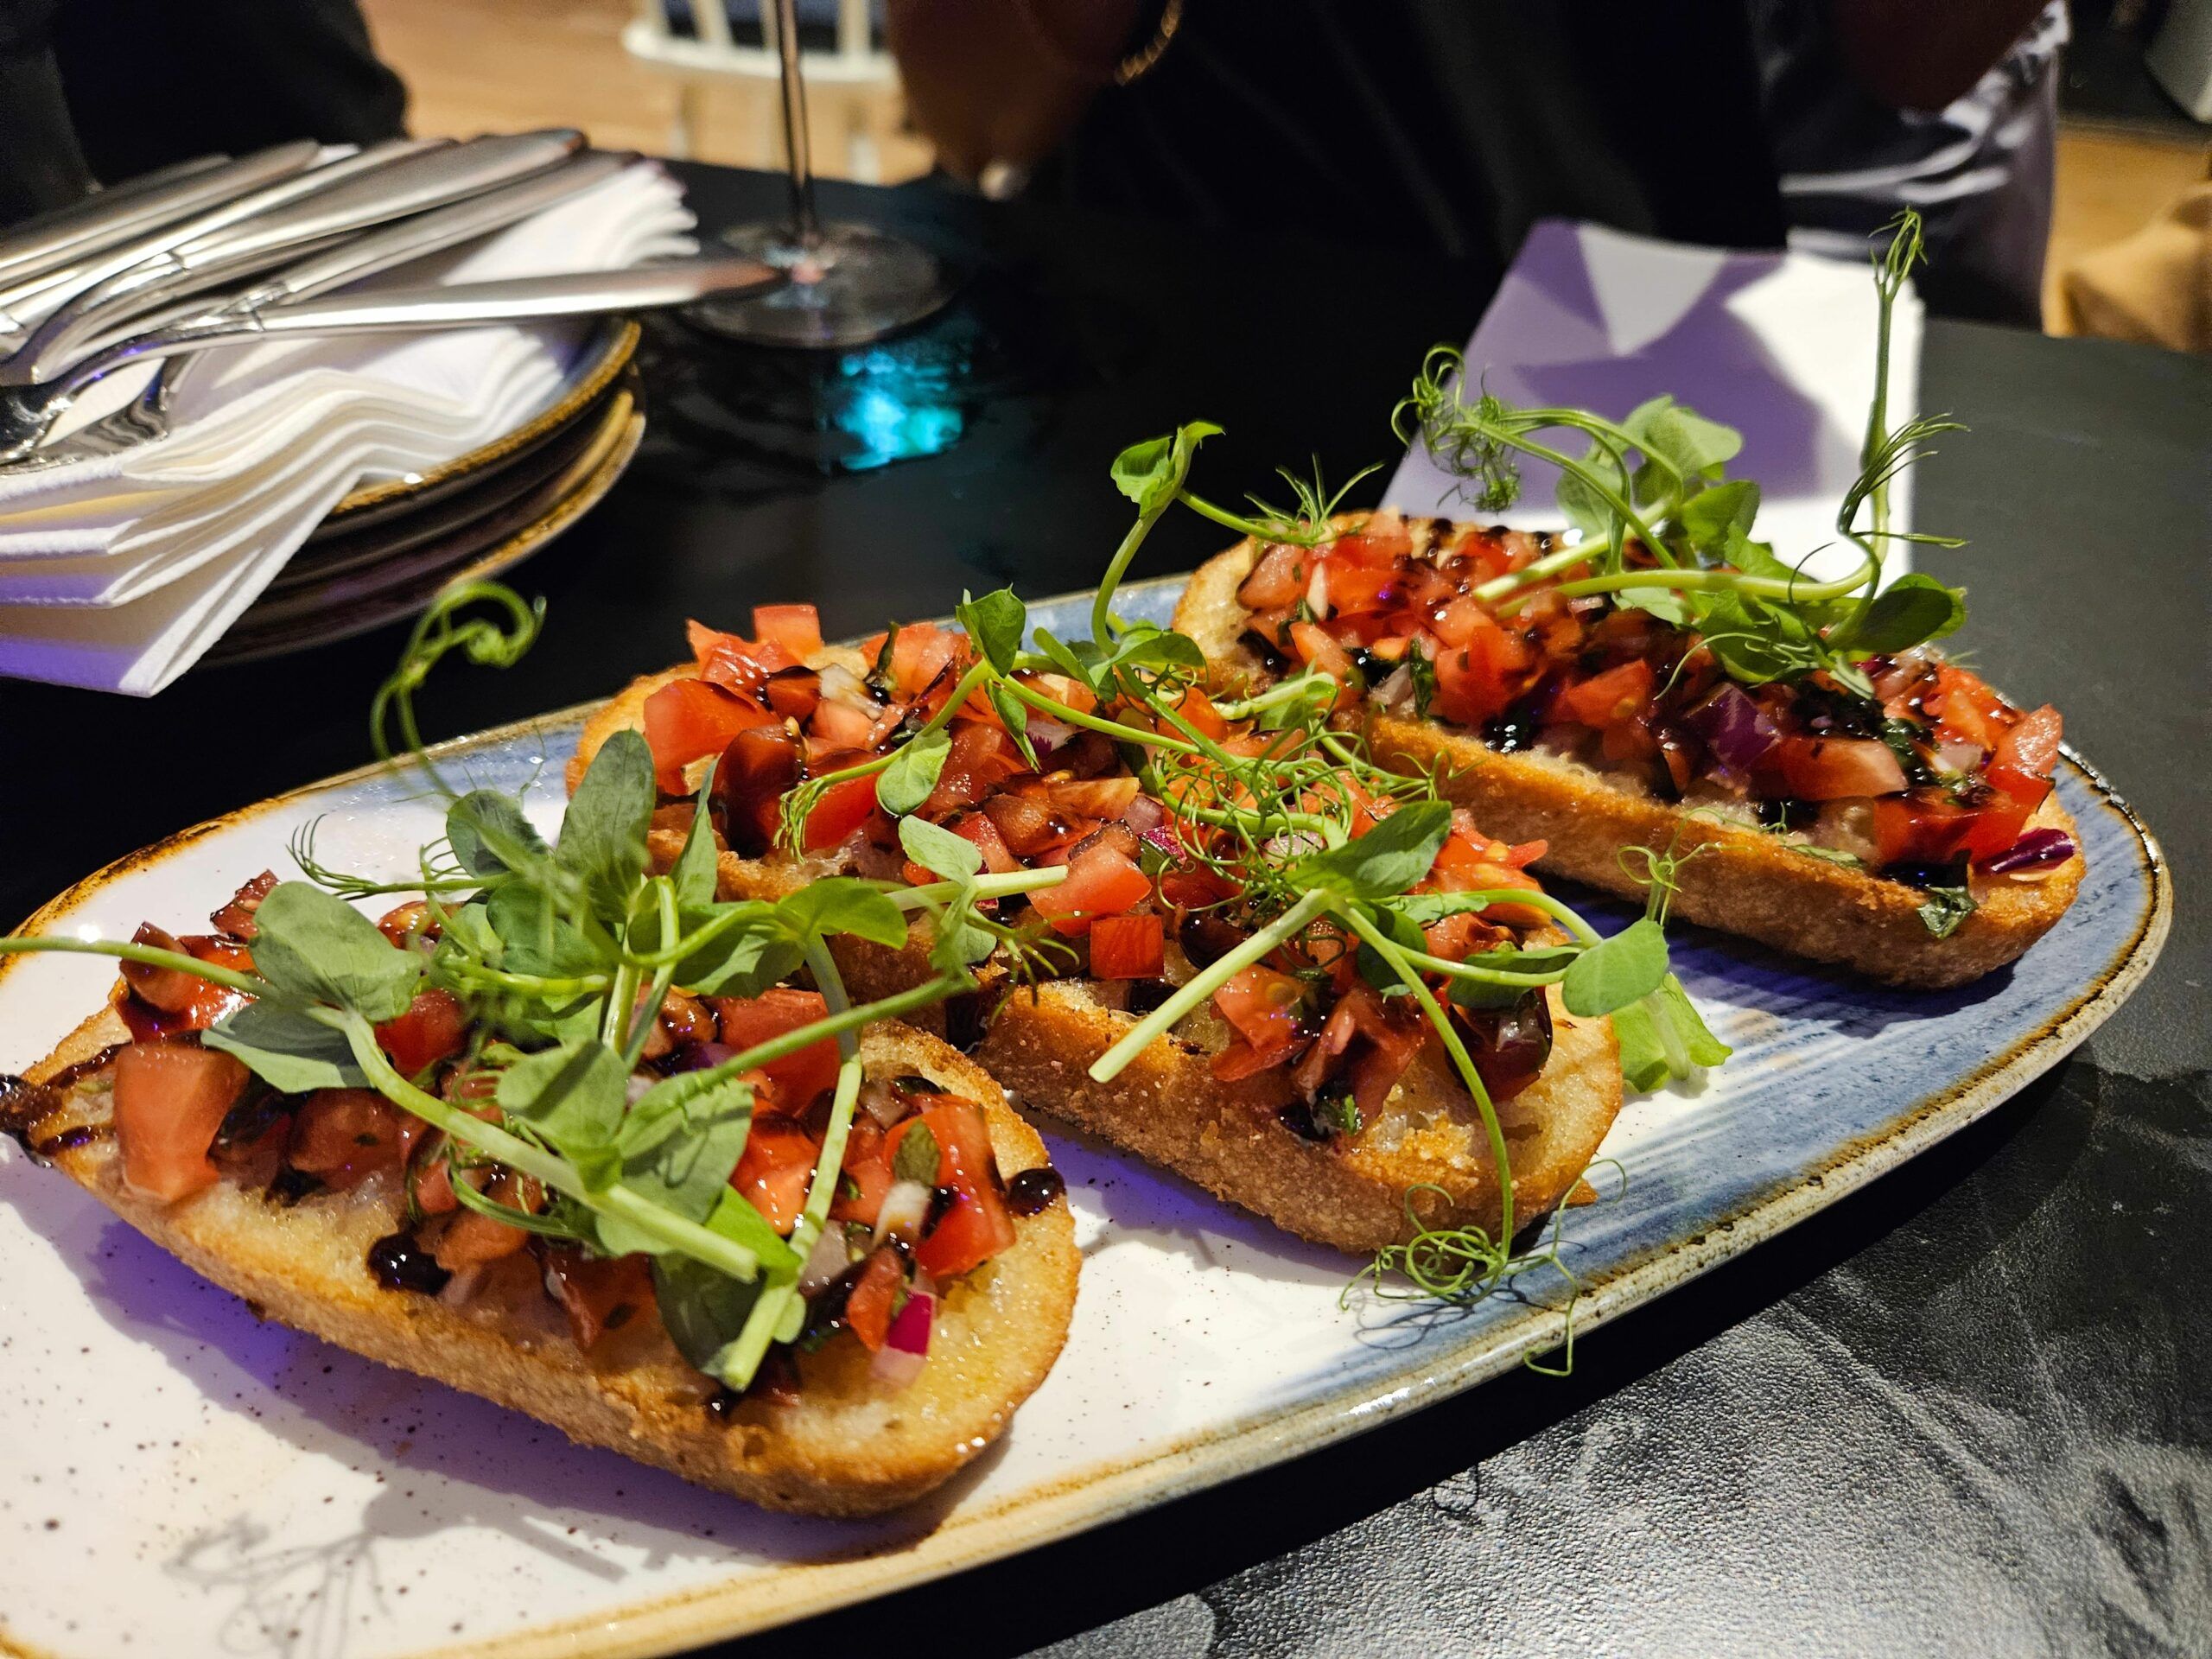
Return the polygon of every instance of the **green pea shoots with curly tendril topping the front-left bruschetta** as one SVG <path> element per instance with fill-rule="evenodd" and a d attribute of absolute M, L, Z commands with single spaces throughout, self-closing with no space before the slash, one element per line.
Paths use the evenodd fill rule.
<path fill-rule="evenodd" d="M 465 615 L 489 606 L 493 617 Z M 416 626 L 378 692 L 376 743 L 447 799 L 445 836 L 420 849 L 411 878 L 356 876 L 314 856 L 314 825 L 294 838 L 305 880 L 276 883 L 254 916 L 254 969 L 239 971 L 159 947 L 0 938 L 0 953 L 80 951 L 212 980 L 252 998 L 204 1033 L 283 1093 L 367 1086 L 442 1130 L 453 1197 L 482 1214 L 597 1254 L 653 1259 L 661 1314 L 679 1349 L 710 1376 L 745 1387 L 772 1343 L 799 1334 L 799 1270 L 818 1239 L 860 1091 L 858 1033 L 971 989 L 971 964 L 1000 940 L 975 916 L 991 878 L 942 847 L 922 863 L 942 883 L 900 889 L 856 878 L 816 880 L 779 902 L 719 900 L 708 790 L 699 790 L 684 854 L 657 874 L 646 849 L 655 810 L 653 759 L 635 732 L 593 757 L 560 834 L 533 825 L 520 794 L 456 794 L 420 750 L 411 697 L 449 650 L 511 664 L 538 635 L 540 611 L 498 584 L 449 588 Z M 405 759 L 392 759 L 387 726 Z M 916 830 L 933 830 L 907 821 Z M 938 832 L 945 834 L 945 832 Z M 973 847 L 947 836 L 962 852 Z M 1022 872 L 1029 887 L 1060 872 Z M 394 945 L 349 898 L 420 896 L 436 945 Z M 936 973 L 889 998 L 854 1004 L 827 942 L 907 938 L 929 916 Z M 703 1068 L 639 1088 L 637 1068 L 670 991 L 759 995 L 805 969 L 827 1015 Z M 484 1099 L 453 1104 L 403 1077 L 376 1026 L 422 991 L 458 995 L 478 1026 L 471 1068 L 491 1073 Z M 785 1239 L 730 1175 L 752 1124 L 745 1073 L 816 1042 L 838 1044 L 838 1082 L 796 1230 Z M 544 1208 L 518 1208 L 467 1179 L 487 1164 L 535 1181 Z"/>

